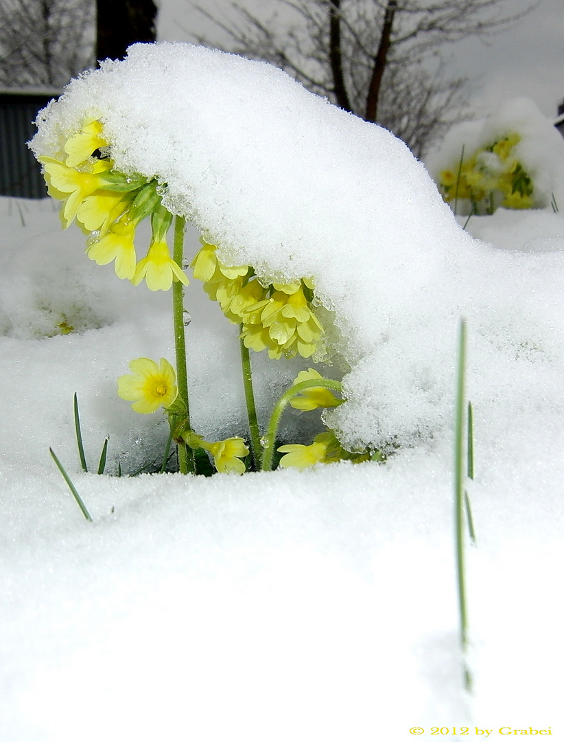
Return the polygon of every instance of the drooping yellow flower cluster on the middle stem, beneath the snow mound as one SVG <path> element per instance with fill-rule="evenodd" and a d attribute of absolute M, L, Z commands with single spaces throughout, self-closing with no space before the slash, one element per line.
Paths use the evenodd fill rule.
<path fill-rule="evenodd" d="M 263 286 L 251 266 L 225 266 L 216 246 L 201 241 L 202 249 L 192 262 L 194 278 L 204 282 L 205 292 L 231 322 L 242 324 L 245 347 L 257 352 L 268 349 L 271 358 L 292 358 L 298 353 L 310 358 L 323 335 L 311 306 L 311 280 Z"/>

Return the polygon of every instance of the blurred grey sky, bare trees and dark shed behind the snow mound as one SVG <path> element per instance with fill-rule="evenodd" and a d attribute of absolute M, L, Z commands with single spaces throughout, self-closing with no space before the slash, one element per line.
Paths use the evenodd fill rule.
<path fill-rule="evenodd" d="M 562 0 L 0 0 L 0 195 L 46 194 L 25 142 L 70 78 L 155 40 L 271 62 L 420 158 L 516 96 L 564 113 Z"/>

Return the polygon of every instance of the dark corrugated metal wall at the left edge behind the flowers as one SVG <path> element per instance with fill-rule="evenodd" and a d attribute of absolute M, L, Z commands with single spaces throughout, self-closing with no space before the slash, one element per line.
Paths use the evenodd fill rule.
<path fill-rule="evenodd" d="M 47 188 L 28 142 L 38 111 L 55 97 L 48 93 L 0 92 L 0 196 L 44 198 Z"/>

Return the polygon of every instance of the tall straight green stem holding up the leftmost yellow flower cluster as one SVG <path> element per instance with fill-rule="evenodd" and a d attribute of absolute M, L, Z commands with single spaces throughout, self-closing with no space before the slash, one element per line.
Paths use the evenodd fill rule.
<path fill-rule="evenodd" d="M 184 257 L 184 217 L 176 217 L 174 221 L 173 260 L 182 270 Z M 176 383 L 178 384 L 179 398 L 186 406 L 186 425 L 190 428 L 190 407 L 188 406 L 188 373 L 186 371 L 186 340 L 184 335 L 184 286 L 179 281 L 173 281 L 173 324 L 174 347 L 176 349 Z M 182 474 L 194 473 L 193 451 L 188 450 L 184 443 L 178 445 L 179 470 Z"/>

